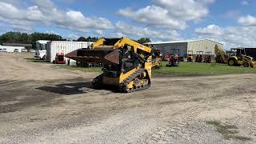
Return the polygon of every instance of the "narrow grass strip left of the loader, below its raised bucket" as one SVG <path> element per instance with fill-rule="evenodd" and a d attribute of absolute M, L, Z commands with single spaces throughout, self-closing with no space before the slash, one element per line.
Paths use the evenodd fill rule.
<path fill-rule="evenodd" d="M 96 72 L 102 73 L 102 67 L 80 67 L 80 66 L 67 66 L 67 65 L 56 65 L 58 68 L 65 70 L 79 70 L 82 72 Z"/>

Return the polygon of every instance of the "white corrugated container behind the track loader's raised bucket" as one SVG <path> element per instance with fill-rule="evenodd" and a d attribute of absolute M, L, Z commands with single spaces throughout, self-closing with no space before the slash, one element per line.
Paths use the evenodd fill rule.
<path fill-rule="evenodd" d="M 52 41 L 46 44 L 46 59 L 48 62 L 53 62 L 56 54 L 68 54 L 71 51 L 88 48 L 94 42 L 70 42 L 70 41 Z M 68 58 L 65 58 L 67 61 Z M 70 59 L 70 63 L 75 61 Z"/>

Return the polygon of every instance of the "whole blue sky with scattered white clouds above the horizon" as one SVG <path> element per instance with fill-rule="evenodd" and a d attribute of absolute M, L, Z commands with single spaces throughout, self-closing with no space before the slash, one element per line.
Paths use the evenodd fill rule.
<path fill-rule="evenodd" d="M 256 46 L 255 0 L 0 0 L 0 32 L 147 37 L 155 41 L 210 38 Z"/>

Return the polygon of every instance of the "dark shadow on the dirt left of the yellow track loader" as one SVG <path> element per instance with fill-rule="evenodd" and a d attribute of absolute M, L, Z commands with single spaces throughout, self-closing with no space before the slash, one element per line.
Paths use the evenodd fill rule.
<path fill-rule="evenodd" d="M 98 89 L 94 89 L 91 86 L 91 82 L 76 82 L 76 83 L 64 83 L 56 86 L 41 86 L 38 90 L 48 91 L 50 93 L 74 95 L 74 94 L 86 94 L 89 92 L 97 92 Z M 114 87 L 103 87 L 100 90 L 110 90 L 111 92 L 118 93 Z M 98 93 L 98 92 L 97 92 Z"/>

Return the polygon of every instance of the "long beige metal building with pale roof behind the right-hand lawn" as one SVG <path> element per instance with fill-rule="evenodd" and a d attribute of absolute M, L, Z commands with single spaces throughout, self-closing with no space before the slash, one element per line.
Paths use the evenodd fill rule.
<path fill-rule="evenodd" d="M 198 39 L 198 40 L 186 40 L 186 41 L 171 41 L 171 42 L 148 42 L 151 46 L 154 46 L 162 52 L 171 52 L 172 49 L 179 49 L 180 56 L 183 58 L 187 57 L 187 54 L 193 53 L 198 54 L 202 51 L 202 54 L 207 52 L 214 56 L 214 46 L 218 45 L 223 50 L 223 44 L 214 42 L 210 39 Z"/>

